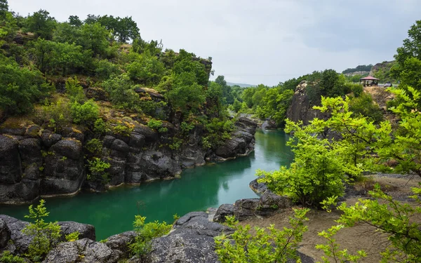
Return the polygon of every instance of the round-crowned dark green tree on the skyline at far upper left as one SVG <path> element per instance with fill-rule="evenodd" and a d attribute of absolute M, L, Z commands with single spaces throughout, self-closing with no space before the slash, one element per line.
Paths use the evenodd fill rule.
<path fill-rule="evenodd" d="M 50 16 L 50 13 L 40 9 L 38 12 L 28 16 L 25 29 L 41 39 L 51 40 L 53 39 L 56 25 L 57 22 Z"/>

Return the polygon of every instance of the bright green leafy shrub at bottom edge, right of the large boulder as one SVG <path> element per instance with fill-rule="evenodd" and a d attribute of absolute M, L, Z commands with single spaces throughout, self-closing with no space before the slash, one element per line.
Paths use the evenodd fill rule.
<path fill-rule="evenodd" d="M 299 259 L 297 249 L 302 234 L 307 231 L 304 222 L 308 220 L 305 217 L 308 211 L 308 208 L 294 209 L 294 217 L 289 218 L 291 228 L 279 230 L 272 224 L 267 228 L 255 227 L 255 234 L 250 233 L 249 224 L 243 227 L 233 217 L 227 217 L 229 227 L 234 227 L 235 232 L 215 237 L 215 252 L 220 262 L 272 263 Z"/>

